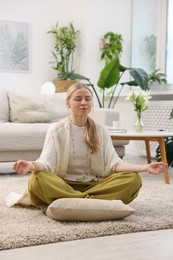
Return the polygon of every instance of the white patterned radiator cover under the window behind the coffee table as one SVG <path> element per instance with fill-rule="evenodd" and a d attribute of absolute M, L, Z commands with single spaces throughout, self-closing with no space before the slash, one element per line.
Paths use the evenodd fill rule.
<path fill-rule="evenodd" d="M 173 119 L 169 119 L 172 109 L 173 101 L 150 101 L 149 108 L 142 114 L 144 130 L 165 130 L 173 132 Z M 150 142 L 152 156 L 155 156 L 157 146 L 157 142 Z M 145 143 L 137 141 L 136 148 L 141 152 L 145 152 Z"/>

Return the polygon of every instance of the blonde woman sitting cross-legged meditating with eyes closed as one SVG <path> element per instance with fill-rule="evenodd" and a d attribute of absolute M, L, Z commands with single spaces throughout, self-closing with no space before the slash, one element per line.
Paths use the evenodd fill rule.
<path fill-rule="evenodd" d="M 153 162 L 136 165 L 117 155 L 105 126 L 89 113 L 93 93 L 83 83 L 67 91 L 68 118 L 53 123 L 46 135 L 40 158 L 19 160 L 18 174 L 31 172 L 28 194 L 32 205 L 43 208 L 58 198 L 122 200 L 128 204 L 142 185 L 138 172 L 160 174 L 167 165 Z"/>

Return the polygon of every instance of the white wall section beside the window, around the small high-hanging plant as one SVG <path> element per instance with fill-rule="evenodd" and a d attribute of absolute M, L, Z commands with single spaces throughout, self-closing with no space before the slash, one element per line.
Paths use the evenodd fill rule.
<path fill-rule="evenodd" d="M 122 34 L 122 62 L 130 64 L 131 1 L 90 0 L 86 19 L 85 69 L 84 73 L 96 84 L 102 64 L 99 41 L 108 31 Z"/>

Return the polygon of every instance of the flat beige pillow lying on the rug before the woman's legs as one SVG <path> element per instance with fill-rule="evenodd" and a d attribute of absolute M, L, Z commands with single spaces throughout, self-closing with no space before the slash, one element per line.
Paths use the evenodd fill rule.
<path fill-rule="evenodd" d="M 103 221 L 122 219 L 133 212 L 121 200 L 61 198 L 48 206 L 46 215 L 61 221 Z"/>

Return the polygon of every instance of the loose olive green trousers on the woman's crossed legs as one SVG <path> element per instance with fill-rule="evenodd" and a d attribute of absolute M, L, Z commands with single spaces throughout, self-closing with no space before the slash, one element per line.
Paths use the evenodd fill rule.
<path fill-rule="evenodd" d="M 137 197 L 141 186 L 141 177 L 136 172 L 114 173 L 98 182 L 74 182 L 40 171 L 31 175 L 28 193 L 31 203 L 39 208 L 59 198 L 122 200 L 128 204 Z"/>

